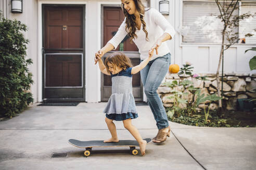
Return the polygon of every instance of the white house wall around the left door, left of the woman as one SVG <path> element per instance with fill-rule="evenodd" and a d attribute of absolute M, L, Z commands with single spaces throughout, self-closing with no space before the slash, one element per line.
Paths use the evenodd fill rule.
<path fill-rule="evenodd" d="M 143 1 L 147 5 L 147 1 Z M 42 102 L 42 4 L 85 4 L 85 88 L 86 102 L 100 102 L 100 70 L 94 65 L 94 54 L 99 50 L 101 35 L 101 5 L 120 5 L 120 0 L 25 0 L 22 13 L 11 13 L 11 0 L 0 2 L 0 10 L 9 19 L 17 19 L 28 26 L 24 33 L 30 40 L 27 57 L 33 60 L 29 66 L 33 74 L 31 92 L 34 102 Z"/>

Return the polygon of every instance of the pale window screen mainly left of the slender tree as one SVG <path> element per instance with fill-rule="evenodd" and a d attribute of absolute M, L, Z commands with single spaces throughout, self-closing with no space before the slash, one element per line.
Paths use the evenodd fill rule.
<path fill-rule="evenodd" d="M 223 23 L 217 15 L 220 11 L 215 2 L 183 2 L 183 42 L 221 43 Z M 238 15 L 238 10 L 233 15 Z"/>

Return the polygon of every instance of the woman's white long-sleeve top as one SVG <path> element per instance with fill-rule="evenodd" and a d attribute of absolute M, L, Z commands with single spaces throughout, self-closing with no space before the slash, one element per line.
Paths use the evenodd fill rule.
<path fill-rule="evenodd" d="M 126 18 L 125 18 L 126 19 Z M 118 32 L 114 35 L 108 43 L 114 46 L 114 49 L 118 47 L 123 38 L 127 35 L 125 30 L 125 19 L 120 25 Z M 140 27 L 140 30 L 136 29 L 135 34 L 137 38 L 133 39 L 135 45 L 137 46 L 140 59 L 144 60 L 148 57 L 148 51 L 153 45 L 155 45 L 157 39 L 163 35 L 163 33 L 168 33 L 171 37 L 174 37 L 175 30 L 173 26 L 161 15 L 159 11 L 154 8 L 150 8 L 145 11 L 144 21 L 146 23 L 146 30 L 148 32 L 148 41 L 146 40 L 146 34 L 143 31 L 143 24 Z M 158 55 L 156 51 L 152 56 L 151 60 L 156 59 L 158 56 L 163 56 L 170 52 L 170 49 L 167 46 L 166 41 L 158 48 Z"/>

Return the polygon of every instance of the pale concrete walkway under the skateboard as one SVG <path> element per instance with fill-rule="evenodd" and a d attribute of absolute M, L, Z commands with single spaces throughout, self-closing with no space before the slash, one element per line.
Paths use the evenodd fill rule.
<path fill-rule="evenodd" d="M 150 143 L 144 157 L 129 148 L 93 148 L 90 157 L 68 139 L 104 140 L 110 137 L 106 103 L 78 106 L 36 106 L 0 122 L 0 169 L 255 169 L 256 128 L 209 128 L 171 124 L 168 140 Z M 158 130 L 149 106 L 137 106 L 133 124 L 143 138 Z M 120 139 L 134 139 L 116 122 Z M 66 158 L 52 154 L 68 153 Z"/>

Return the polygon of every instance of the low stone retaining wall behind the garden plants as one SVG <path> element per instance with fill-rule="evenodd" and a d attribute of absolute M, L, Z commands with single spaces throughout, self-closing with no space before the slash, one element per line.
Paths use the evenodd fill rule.
<path fill-rule="evenodd" d="M 162 84 L 157 90 L 157 93 L 162 99 L 164 107 L 172 107 L 173 100 L 169 99 L 168 96 L 172 95 L 170 92 L 172 88 L 166 87 L 163 85 L 164 82 L 172 82 L 174 80 L 180 82 L 184 79 L 191 80 L 195 88 L 201 88 L 201 94 L 204 93 L 204 96 L 209 94 L 217 95 L 217 81 L 215 74 L 199 74 L 199 76 L 208 76 L 206 81 L 193 78 L 189 75 L 170 74 L 168 73 Z M 221 81 L 221 75 L 220 75 Z M 220 86 L 221 87 L 221 86 Z M 183 86 L 176 87 L 178 91 L 188 92 L 188 95 L 182 96 L 182 98 L 187 99 L 188 102 L 194 102 L 195 96 L 190 93 L 187 89 L 183 89 Z M 223 77 L 223 107 L 228 110 L 237 109 L 237 99 L 238 98 L 256 98 L 256 74 L 224 74 Z M 206 102 L 206 105 L 200 104 L 199 108 L 208 107 L 210 101 Z M 210 104 L 211 109 L 217 108 L 217 101 Z M 180 107 L 186 107 L 182 105 Z"/>

